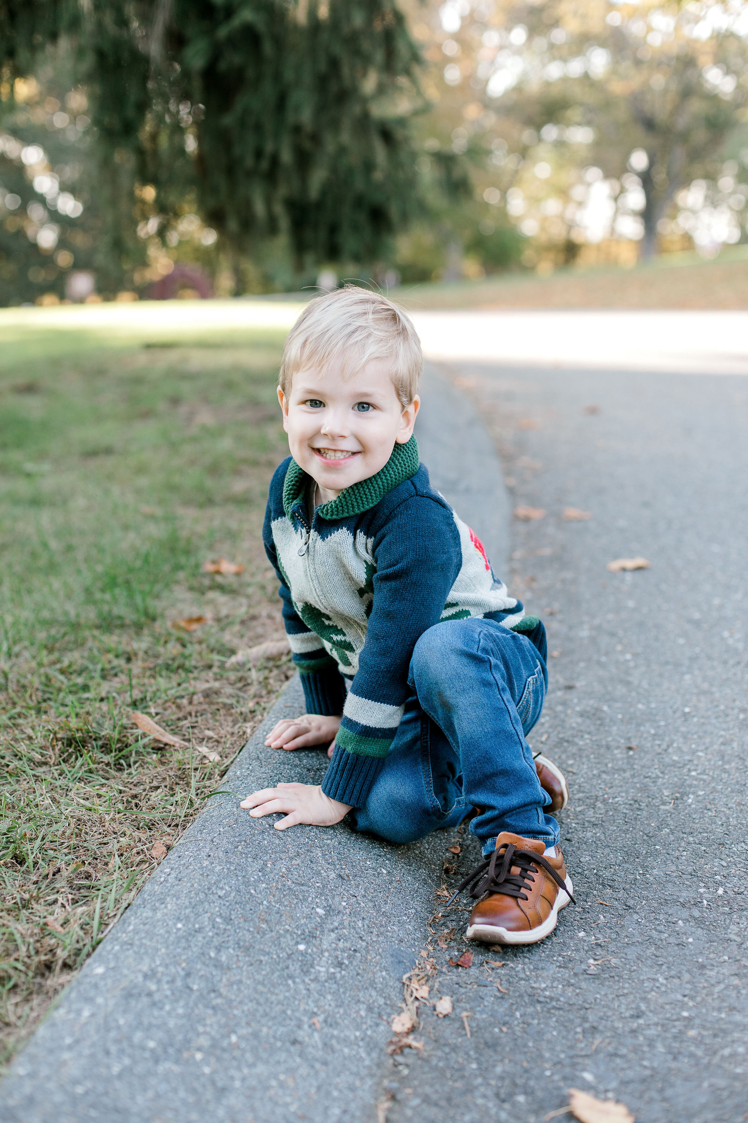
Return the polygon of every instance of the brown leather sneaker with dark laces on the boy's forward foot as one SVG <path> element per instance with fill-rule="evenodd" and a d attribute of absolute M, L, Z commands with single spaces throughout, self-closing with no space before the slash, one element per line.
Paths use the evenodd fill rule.
<path fill-rule="evenodd" d="M 499 834 L 490 858 L 458 888 L 461 893 L 470 885 L 470 896 L 479 898 L 470 914 L 469 940 L 537 943 L 553 932 L 558 911 L 574 898 L 561 848 L 556 846 L 556 858 L 544 857 L 544 850 L 535 839 Z"/>

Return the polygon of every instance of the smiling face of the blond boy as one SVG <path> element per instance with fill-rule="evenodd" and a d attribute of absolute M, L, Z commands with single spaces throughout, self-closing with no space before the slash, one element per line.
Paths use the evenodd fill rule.
<path fill-rule="evenodd" d="M 345 378 L 342 359 L 298 371 L 278 400 L 292 456 L 324 501 L 384 468 L 395 445 L 409 440 L 419 405 L 416 396 L 403 409 L 385 359 Z"/>

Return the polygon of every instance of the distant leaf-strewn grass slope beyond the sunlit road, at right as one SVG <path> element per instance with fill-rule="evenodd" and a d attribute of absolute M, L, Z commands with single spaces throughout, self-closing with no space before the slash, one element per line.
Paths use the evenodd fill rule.
<path fill-rule="evenodd" d="M 714 261 L 663 254 L 631 270 L 563 268 L 551 276 L 509 273 L 483 281 L 403 285 L 393 298 L 413 312 L 446 308 L 748 308 L 748 246 Z"/>

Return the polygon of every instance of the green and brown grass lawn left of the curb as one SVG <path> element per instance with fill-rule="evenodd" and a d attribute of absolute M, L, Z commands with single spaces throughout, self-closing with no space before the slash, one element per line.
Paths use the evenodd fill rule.
<path fill-rule="evenodd" d="M 259 329 L 203 330 L 188 348 L 137 330 L 3 331 L 1 1060 L 220 787 L 290 674 L 287 658 L 228 663 L 281 630 L 260 536 L 287 453 L 281 341 Z M 244 573 L 203 573 L 219 556 Z M 196 615 L 206 622 L 192 632 L 173 627 Z M 133 709 L 220 761 L 159 748 Z"/>

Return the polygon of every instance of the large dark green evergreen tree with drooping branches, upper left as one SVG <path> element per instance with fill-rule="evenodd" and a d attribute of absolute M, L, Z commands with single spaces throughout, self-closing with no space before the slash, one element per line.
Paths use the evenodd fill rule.
<path fill-rule="evenodd" d="M 194 190 L 236 255 L 285 232 L 297 268 L 371 261 L 414 214 L 419 57 L 394 0 L 0 0 L 6 88 L 61 43 L 120 255 L 137 183 L 167 218 Z"/>

